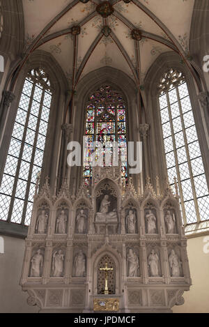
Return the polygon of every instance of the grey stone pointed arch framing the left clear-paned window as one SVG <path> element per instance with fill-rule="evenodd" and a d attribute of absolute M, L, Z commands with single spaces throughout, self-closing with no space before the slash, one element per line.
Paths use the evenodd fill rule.
<path fill-rule="evenodd" d="M 5 130 L 1 150 L 3 151 L 0 158 L 0 167 L 1 167 L 1 177 L 3 174 L 3 168 L 6 163 L 6 157 L 8 153 L 8 147 L 10 144 L 10 139 L 15 124 L 15 118 L 17 114 L 17 108 L 20 102 L 22 95 L 22 89 L 24 86 L 24 81 L 27 73 L 33 68 L 41 67 L 50 77 L 50 82 L 52 84 L 52 89 L 54 89 L 52 94 L 52 105 L 49 115 L 49 124 L 47 130 L 47 138 L 45 144 L 45 155 L 42 164 L 42 175 L 40 178 L 40 188 L 42 187 L 45 177 L 49 176 L 50 184 L 53 187 L 56 183 L 56 170 L 59 160 L 60 152 L 60 138 L 61 138 L 61 126 L 63 123 L 63 111 L 65 105 L 65 92 L 68 89 L 68 81 L 63 73 L 63 70 L 59 63 L 54 59 L 52 54 L 42 50 L 36 50 L 31 54 L 26 64 L 23 66 L 18 76 L 17 82 L 15 84 L 15 100 L 13 100 L 10 105 L 10 110 L 7 116 L 7 119 L 4 121 L 4 126 L 2 127 Z M 8 74 L 8 79 L 10 78 Z M 4 108 L 5 109 L 5 108 Z M 54 158 L 54 153 L 58 155 Z"/>

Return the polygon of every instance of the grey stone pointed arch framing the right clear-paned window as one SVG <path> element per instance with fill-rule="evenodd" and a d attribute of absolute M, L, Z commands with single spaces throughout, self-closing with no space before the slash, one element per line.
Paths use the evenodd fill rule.
<path fill-rule="evenodd" d="M 146 98 L 146 116 L 148 123 L 150 124 L 150 132 L 148 135 L 149 142 L 149 165 L 150 165 L 150 177 L 155 187 L 155 177 L 159 177 L 160 189 L 163 190 L 164 183 L 167 181 L 167 163 L 164 158 L 164 145 L 162 136 L 162 126 L 160 118 L 160 110 L 157 102 L 157 85 L 160 82 L 160 77 L 170 68 L 180 70 L 187 82 L 189 97 L 192 103 L 192 109 L 194 113 L 194 120 L 196 123 L 196 130 L 199 135 L 199 143 L 203 153 L 203 162 L 206 165 L 206 175 L 209 172 L 208 168 L 208 146 L 207 135 L 208 131 L 203 123 L 203 116 L 201 107 L 197 98 L 197 93 L 202 91 L 201 81 L 194 81 L 194 76 L 191 70 L 180 61 L 180 56 L 174 52 L 165 52 L 161 54 L 148 70 L 148 73 L 144 82 L 144 93 Z M 151 160 L 155 158 L 155 160 Z"/>

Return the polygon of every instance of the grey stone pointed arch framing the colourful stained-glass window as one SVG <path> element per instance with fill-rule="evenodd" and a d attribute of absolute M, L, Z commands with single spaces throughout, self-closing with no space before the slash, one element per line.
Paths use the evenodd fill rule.
<path fill-rule="evenodd" d="M 88 101 L 88 97 L 94 91 L 104 84 L 110 85 L 115 91 L 120 92 L 125 102 L 127 103 L 127 141 L 137 142 L 139 141 L 139 110 L 137 109 L 137 85 L 134 81 L 123 73 L 121 70 L 111 67 L 102 67 L 97 70 L 93 70 L 84 76 L 77 85 L 77 95 L 75 99 L 75 107 L 77 108 L 72 117 L 72 122 L 75 126 L 73 132 L 73 139 L 79 144 L 83 144 L 83 135 L 81 131 L 84 131 L 85 126 L 85 106 Z M 79 119 L 77 119 L 79 117 Z M 128 126 L 132 128 L 128 128 Z M 73 178 L 77 178 L 79 184 L 79 178 L 82 179 L 83 169 L 82 167 L 72 167 L 71 169 L 71 181 Z"/>

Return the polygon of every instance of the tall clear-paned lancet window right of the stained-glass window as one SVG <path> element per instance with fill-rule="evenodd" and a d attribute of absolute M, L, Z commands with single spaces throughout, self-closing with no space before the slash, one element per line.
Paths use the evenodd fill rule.
<path fill-rule="evenodd" d="M 184 223 L 208 220 L 208 185 L 185 77 L 171 69 L 159 90 L 169 182 L 178 179 Z"/>

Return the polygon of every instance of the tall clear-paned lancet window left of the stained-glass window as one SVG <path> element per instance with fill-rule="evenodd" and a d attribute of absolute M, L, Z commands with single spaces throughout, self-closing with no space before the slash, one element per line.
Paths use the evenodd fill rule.
<path fill-rule="evenodd" d="M 1 181 L 0 220 L 30 223 L 51 101 L 49 77 L 42 69 L 31 70 L 24 82 Z"/>

